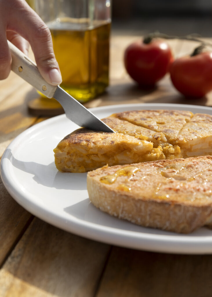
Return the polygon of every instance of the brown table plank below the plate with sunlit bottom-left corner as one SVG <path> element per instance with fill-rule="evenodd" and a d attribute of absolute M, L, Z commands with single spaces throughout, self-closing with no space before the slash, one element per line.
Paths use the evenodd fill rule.
<path fill-rule="evenodd" d="M 0 271 L 0 296 L 94 296 L 109 251 L 34 219 Z"/>

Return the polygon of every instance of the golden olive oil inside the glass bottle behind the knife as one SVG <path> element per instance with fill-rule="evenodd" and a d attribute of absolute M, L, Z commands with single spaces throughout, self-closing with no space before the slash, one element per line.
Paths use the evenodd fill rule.
<path fill-rule="evenodd" d="M 75 24 L 72 30 L 68 25 L 48 24 L 61 70 L 61 87 L 80 102 L 86 102 L 108 86 L 110 23 L 86 29 Z"/>

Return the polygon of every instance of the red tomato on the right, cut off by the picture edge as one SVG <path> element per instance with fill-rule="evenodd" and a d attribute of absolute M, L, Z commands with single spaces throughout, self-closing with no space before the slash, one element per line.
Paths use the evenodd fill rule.
<path fill-rule="evenodd" d="M 186 97 L 203 97 L 212 90 L 212 53 L 176 59 L 170 67 L 175 88 Z"/>

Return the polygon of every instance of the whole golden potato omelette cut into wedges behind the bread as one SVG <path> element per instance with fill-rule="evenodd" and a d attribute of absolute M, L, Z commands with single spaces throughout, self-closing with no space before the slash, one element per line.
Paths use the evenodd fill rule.
<path fill-rule="evenodd" d="M 134 110 L 113 114 L 103 121 L 117 133 L 81 128 L 67 135 L 54 149 L 58 170 L 86 172 L 106 164 L 212 154 L 211 115 Z"/>

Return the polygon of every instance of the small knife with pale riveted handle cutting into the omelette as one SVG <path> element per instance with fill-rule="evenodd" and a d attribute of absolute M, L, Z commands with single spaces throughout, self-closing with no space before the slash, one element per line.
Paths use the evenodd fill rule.
<path fill-rule="evenodd" d="M 60 86 L 52 86 L 47 83 L 40 74 L 37 65 L 9 40 L 7 42 L 12 56 L 12 71 L 46 97 L 55 98 L 62 105 L 68 119 L 87 129 L 114 132 Z"/>

